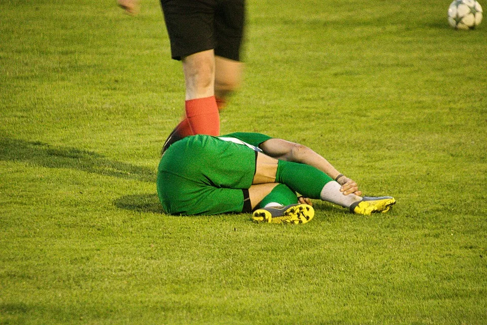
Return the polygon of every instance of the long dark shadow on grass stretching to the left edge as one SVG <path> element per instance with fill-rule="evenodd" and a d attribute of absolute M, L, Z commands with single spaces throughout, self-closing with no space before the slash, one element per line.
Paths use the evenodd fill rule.
<path fill-rule="evenodd" d="M 156 172 L 110 160 L 93 151 L 52 146 L 43 142 L 19 139 L 0 139 L 0 160 L 23 161 L 47 168 L 68 168 L 124 179 L 155 183 Z"/>

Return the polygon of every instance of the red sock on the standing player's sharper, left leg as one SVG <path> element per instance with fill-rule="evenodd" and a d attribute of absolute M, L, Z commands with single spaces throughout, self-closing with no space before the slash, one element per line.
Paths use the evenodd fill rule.
<path fill-rule="evenodd" d="M 220 114 L 215 96 L 189 100 L 185 106 L 193 134 L 220 135 Z"/>

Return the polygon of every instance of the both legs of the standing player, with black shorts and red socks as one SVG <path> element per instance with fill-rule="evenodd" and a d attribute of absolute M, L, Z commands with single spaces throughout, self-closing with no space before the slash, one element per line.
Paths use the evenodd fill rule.
<path fill-rule="evenodd" d="M 185 53 L 197 54 L 194 57 L 188 55 L 183 58 L 188 118 L 183 119 L 166 140 L 162 148 L 162 152 L 164 152 L 173 142 L 188 135 L 219 134 L 220 117 L 218 111 L 215 110 L 215 105 L 218 109 L 223 109 L 229 95 L 240 85 L 242 74 L 240 49 L 246 13 L 245 0 L 215 2 L 213 7 L 207 5 L 207 2 L 197 0 L 180 0 L 179 2 L 161 0 L 161 3 L 171 39 L 173 58 L 178 59 L 179 57 L 178 37 L 174 36 L 179 34 L 178 32 L 172 33 L 171 30 L 185 30 L 185 26 L 198 26 L 196 30 L 193 28 L 186 33 L 186 43 L 188 40 L 191 43 L 205 44 L 206 42 L 204 48 L 200 47 L 200 51 L 214 50 L 210 60 L 205 56 L 207 53 L 197 53 L 198 51 Z M 195 7 L 199 8 L 198 12 L 192 12 Z M 176 19 L 173 15 L 175 12 L 177 13 Z M 172 21 L 181 19 L 181 16 L 188 20 L 183 27 L 172 23 Z M 194 17 L 198 19 L 194 19 Z M 171 37 L 171 35 L 173 36 Z M 201 39 L 206 41 L 201 41 Z M 208 62 L 213 65 L 211 66 Z M 209 68 L 213 68 L 213 70 Z M 210 89 L 212 84 L 213 89 Z M 188 103 L 188 101 L 191 102 Z"/>

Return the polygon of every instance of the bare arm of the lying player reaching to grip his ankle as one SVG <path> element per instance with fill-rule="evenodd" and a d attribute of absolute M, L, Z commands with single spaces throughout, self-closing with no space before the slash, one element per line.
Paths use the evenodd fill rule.
<path fill-rule="evenodd" d="M 333 179 L 336 179 L 336 177 L 340 175 L 340 172 L 337 171 L 328 160 L 301 144 L 283 139 L 269 139 L 262 142 L 259 147 L 265 154 L 273 158 L 310 165 L 321 170 Z M 342 185 L 340 190 L 343 194 L 347 195 L 355 193 L 358 196 L 362 195 L 362 192 L 358 190 L 357 183 L 352 179 L 341 176 L 336 181 Z"/>

